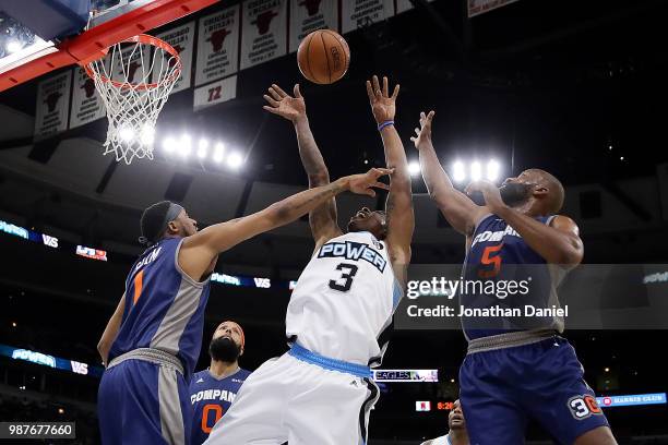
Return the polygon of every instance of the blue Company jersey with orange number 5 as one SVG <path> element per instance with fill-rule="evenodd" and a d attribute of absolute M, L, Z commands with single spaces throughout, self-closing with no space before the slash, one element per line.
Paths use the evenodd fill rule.
<path fill-rule="evenodd" d="M 537 217 L 549 225 L 553 216 Z M 558 265 L 548 264 L 511 226 L 496 215 L 485 216 L 476 226 L 464 262 L 464 280 L 467 286 L 460 291 L 460 304 L 467 309 L 492 306 L 511 309 L 522 316 L 476 317 L 463 316 L 464 334 L 468 339 L 502 334 L 512 330 L 554 328 L 563 330 L 563 318 L 553 316 L 524 316 L 525 306 L 540 309 L 559 308 L 557 286 L 565 276 Z M 512 293 L 509 282 L 513 285 Z"/>

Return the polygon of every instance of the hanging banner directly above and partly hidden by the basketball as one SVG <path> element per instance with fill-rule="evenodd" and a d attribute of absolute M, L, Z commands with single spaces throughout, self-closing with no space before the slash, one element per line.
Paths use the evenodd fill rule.
<path fill-rule="evenodd" d="M 301 40 L 315 29 L 338 28 L 336 0 L 290 1 L 290 52 L 297 51 Z"/>

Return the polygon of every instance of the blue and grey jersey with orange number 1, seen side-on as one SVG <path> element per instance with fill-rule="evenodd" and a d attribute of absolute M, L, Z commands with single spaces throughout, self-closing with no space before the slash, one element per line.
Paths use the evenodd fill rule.
<path fill-rule="evenodd" d="M 148 248 L 126 280 L 126 308 L 109 360 L 138 348 L 155 348 L 178 357 L 186 382 L 200 357 L 208 278 L 198 282 L 181 270 L 182 238 Z"/>

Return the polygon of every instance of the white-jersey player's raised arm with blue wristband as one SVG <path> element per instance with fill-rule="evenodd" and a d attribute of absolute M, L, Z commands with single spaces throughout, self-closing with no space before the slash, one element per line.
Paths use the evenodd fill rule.
<path fill-rule="evenodd" d="M 378 76 L 367 81 L 367 95 L 371 104 L 371 112 L 379 127 L 383 147 L 385 149 L 385 163 L 387 168 L 394 169 L 390 179 L 390 193 L 385 203 L 387 214 L 387 248 L 395 272 L 399 272 L 405 281 L 404 266 L 410 262 L 410 241 L 415 228 L 415 215 L 413 212 L 413 192 L 410 189 L 410 173 L 408 172 L 408 160 L 406 152 L 396 129 L 394 128 L 394 115 L 396 112 L 396 97 L 399 85 L 394 87 L 392 96 L 387 77 L 383 77 L 381 88 Z M 397 269 L 398 267 L 398 269 Z"/>

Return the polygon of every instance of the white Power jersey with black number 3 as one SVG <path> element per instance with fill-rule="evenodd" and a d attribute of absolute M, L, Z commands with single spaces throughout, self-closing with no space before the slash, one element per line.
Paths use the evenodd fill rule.
<path fill-rule="evenodd" d="M 401 296 L 385 243 L 366 231 L 342 234 L 301 273 L 287 308 L 287 337 L 324 357 L 379 365 Z"/>

